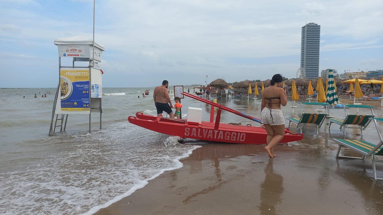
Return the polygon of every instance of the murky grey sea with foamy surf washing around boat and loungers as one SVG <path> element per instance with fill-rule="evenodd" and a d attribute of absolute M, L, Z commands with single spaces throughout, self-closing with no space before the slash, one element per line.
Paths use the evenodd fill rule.
<path fill-rule="evenodd" d="M 157 114 L 153 88 L 142 98 L 145 90 L 103 88 L 101 130 L 98 113 L 92 113 L 91 134 L 88 115 L 70 115 L 63 135 L 48 136 L 56 89 L 0 89 L 0 213 L 92 214 L 144 187 L 164 171 L 181 168 L 179 160 L 200 147 L 201 142 L 169 144 L 172 143 L 169 135 L 130 124 L 127 118 L 136 112 Z M 34 94 L 38 98 L 33 98 Z M 41 98 L 44 94 L 47 97 Z M 170 98 L 174 99 L 172 93 Z M 218 102 L 260 118 L 259 100 L 228 98 Z M 184 118 L 191 106 L 203 109 L 203 120 L 210 119 L 208 104 L 191 98 L 182 99 L 181 103 Z M 299 105 L 295 112 L 291 105 L 289 101 L 282 107 L 283 114 L 299 117 Z M 306 106 L 303 111 L 316 112 L 315 109 L 322 108 Z M 370 114 L 368 109 L 360 111 Z M 330 114 L 342 118 L 344 110 L 331 109 Z M 383 117 L 381 109 L 376 109 L 375 114 Z M 221 122 L 259 125 L 226 111 L 222 112 Z M 316 133 L 313 129 L 306 132 Z M 337 128 L 332 128 L 332 132 L 340 134 Z M 357 129 L 349 132 L 352 135 L 349 138 L 355 132 Z M 319 138 L 325 138 L 322 133 L 323 129 Z M 375 136 L 374 128 L 365 130 L 368 141 Z M 310 137 L 313 136 L 305 135 Z"/>

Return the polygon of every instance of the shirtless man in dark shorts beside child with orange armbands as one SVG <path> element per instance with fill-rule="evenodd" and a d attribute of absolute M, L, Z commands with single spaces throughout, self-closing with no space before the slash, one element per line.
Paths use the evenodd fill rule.
<path fill-rule="evenodd" d="M 169 114 L 170 118 L 174 118 L 172 101 L 169 98 L 169 91 L 167 90 L 169 82 L 167 80 L 162 81 L 161 86 L 157 86 L 153 92 L 154 105 L 157 109 L 157 116 L 160 116 L 163 111 Z M 170 106 L 169 106 L 169 104 Z"/>

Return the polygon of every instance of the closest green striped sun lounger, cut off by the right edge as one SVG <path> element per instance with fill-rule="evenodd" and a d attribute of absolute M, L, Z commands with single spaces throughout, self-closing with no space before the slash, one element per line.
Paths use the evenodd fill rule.
<path fill-rule="evenodd" d="M 376 166 L 375 162 L 383 162 L 381 156 L 383 155 L 383 142 L 381 141 L 377 145 L 367 142 L 367 141 L 362 141 L 362 140 L 344 140 L 344 139 L 334 139 L 335 141 L 338 142 L 339 148 L 338 152 L 336 154 L 336 158 L 350 158 L 350 159 L 365 159 L 365 158 L 372 158 L 372 169 L 374 172 L 374 179 L 377 180 L 383 180 L 383 178 L 378 178 L 376 177 Z M 340 156 L 340 148 L 341 147 L 346 147 L 350 148 L 354 151 L 357 151 L 358 153 L 362 154 L 362 157 L 348 157 L 348 156 Z"/>

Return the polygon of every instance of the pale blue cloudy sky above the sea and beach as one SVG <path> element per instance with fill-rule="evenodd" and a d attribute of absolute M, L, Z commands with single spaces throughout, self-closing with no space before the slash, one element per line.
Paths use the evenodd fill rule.
<path fill-rule="evenodd" d="M 104 87 L 295 77 L 301 27 L 321 25 L 319 69 L 383 69 L 383 1 L 96 0 Z M 92 38 L 93 0 L 0 0 L 0 87 L 55 87 L 54 39 Z"/>

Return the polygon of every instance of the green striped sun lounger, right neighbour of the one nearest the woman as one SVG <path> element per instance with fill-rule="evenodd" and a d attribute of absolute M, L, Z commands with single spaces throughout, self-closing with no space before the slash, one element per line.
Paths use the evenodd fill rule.
<path fill-rule="evenodd" d="M 367 123 L 370 121 L 372 115 L 352 115 L 348 114 L 345 119 L 330 119 L 329 129 L 332 123 L 340 125 L 339 129 L 343 131 L 344 135 L 346 135 L 346 128 L 349 125 L 357 125 L 360 129 L 360 132 L 363 136 L 363 129 L 367 127 Z"/>

